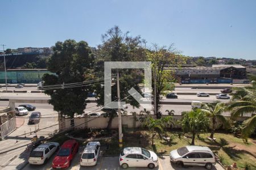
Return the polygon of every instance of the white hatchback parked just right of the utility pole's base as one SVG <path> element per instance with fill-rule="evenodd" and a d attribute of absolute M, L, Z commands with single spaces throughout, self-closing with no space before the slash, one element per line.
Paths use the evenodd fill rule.
<path fill-rule="evenodd" d="M 158 166 L 158 156 L 141 147 L 126 147 L 119 156 L 119 165 L 123 169 L 128 167 L 148 167 L 153 169 Z"/>

